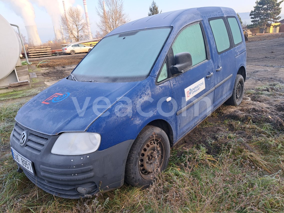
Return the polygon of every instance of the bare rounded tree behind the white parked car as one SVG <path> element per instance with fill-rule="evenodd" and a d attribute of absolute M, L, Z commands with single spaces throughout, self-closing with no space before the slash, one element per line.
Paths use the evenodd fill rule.
<path fill-rule="evenodd" d="M 73 41 L 80 41 L 88 37 L 88 28 L 82 12 L 77 7 L 69 7 L 66 16 L 60 18 L 61 34 Z"/>

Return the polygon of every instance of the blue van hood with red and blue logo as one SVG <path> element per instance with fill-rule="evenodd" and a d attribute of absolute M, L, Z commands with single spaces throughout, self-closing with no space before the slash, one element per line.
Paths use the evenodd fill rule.
<path fill-rule="evenodd" d="M 22 126 L 47 135 L 85 131 L 101 115 L 93 110 L 95 99 L 105 97 L 113 105 L 138 83 L 78 82 L 64 78 L 22 106 L 15 120 Z M 100 101 L 95 105 L 106 105 L 106 102 Z M 97 110 L 103 113 L 107 107 Z"/>

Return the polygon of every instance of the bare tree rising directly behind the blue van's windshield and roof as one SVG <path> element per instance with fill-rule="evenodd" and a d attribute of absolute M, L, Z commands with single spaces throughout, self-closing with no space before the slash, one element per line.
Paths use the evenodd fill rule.
<path fill-rule="evenodd" d="M 99 34 L 103 36 L 130 20 L 129 16 L 123 12 L 123 0 L 105 0 L 105 8 L 99 0 L 96 10 L 100 17 L 97 27 Z"/>

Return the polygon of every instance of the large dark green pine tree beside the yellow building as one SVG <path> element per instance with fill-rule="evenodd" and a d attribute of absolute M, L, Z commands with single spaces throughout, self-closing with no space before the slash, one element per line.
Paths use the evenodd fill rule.
<path fill-rule="evenodd" d="M 254 10 L 250 12 L 250 18 L 252 19 L 252 25 L 263 27 L 263 33 L 265 31 L 266 25 L 273 22 L 277 22 L 281 16 L 281 7 L 280 4 L 283 2 L 277 0 L 258 0 L 256 1 L 256 6 Z"/>

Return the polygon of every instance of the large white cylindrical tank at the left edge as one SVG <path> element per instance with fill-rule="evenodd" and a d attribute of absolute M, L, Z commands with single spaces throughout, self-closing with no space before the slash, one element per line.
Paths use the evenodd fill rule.
<path fill-rule="evenodd" d="M 22 52 L 18 35 L 9 22 L 0 14 L 0 80 L 7 77 L 17 64 Z"/>

